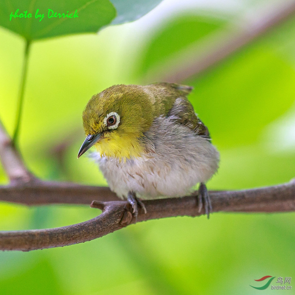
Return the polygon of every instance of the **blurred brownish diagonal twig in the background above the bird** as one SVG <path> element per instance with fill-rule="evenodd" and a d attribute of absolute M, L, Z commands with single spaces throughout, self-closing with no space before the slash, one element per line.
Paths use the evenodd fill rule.
<path fill-rule="evenodd" d="M 279 2 L 276 5 L 272 4 L 271 7 L 264 5 L 263 9 L 255 13 L 254 19 L 242 18 L 240 21 L 242 25 L 237 24 L 224 32 L 217 32 L 216 36 L 209 37 L 208 40 L 201 42 L 201 45 L 198 43 L 187 53 L 182 52 L 179 60 L 178 58 L 169 60 L 159 68 L 151 69 L 143 80 L 145 83 L 151 81 L 181 83 L 216 65 L 294 13 L 295 1 Z"/>

